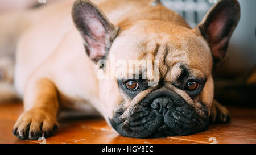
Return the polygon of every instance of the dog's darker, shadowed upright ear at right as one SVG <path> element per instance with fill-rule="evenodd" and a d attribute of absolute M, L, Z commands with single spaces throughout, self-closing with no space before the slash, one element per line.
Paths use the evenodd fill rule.
<path fill-rule="evenodd" d="M 240 5 L 237 0 L 220 0 L 196 27 L 208 41 L 214 64 L 225 58 L 230 37 L 239 19 Z"/>

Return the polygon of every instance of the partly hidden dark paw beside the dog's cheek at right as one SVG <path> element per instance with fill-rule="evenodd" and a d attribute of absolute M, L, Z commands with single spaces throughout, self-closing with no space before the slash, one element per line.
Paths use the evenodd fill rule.
<path fill-rule="evenodd" d="M 221 106 L 216 100 L 213 100 L 210 110 L 210 122 L 213 123 L 228 123 L 230 122 L 230 114 L 226 107 Z"/>

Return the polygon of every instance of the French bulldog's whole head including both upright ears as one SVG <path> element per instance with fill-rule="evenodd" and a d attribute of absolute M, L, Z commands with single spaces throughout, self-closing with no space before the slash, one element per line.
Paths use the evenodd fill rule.
<path fill-rule="evenodd" d="M 220 1 L 195 29 L 159 20 L 120 29 L 89 1 L 76 1 L 73 20 L 89 57 L 109 62 L 101 68 L 105 75 L 127 69 L 125 76 L 115 72 L 114 79 L 100 80 L 103 113 L 112 127 L 128 137 L 189 135 L 207 128 L 212 68 L 225 57 L 239 15 L 237 1 Z M 117 65 L 117 60 L 145 60 L 154 67 L 129 68 Z M 138 78 L 130 76 L 130 70 Z M 157 82 L 149 85 L 152 79 L 142 78 L 144 72 L 154 73 Z"/>

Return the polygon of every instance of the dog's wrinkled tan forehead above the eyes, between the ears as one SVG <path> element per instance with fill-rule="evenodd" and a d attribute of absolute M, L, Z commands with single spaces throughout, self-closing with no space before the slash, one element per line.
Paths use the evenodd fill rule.
<path fill-rule="evenodd" d="M 159 60 L 160 72 L 177 62 L 210 74 L 212 56 L 200 33 L 168 22 L 138 22 L 124 28 L 114 40 L 109 56 L 121 60 Z"/>

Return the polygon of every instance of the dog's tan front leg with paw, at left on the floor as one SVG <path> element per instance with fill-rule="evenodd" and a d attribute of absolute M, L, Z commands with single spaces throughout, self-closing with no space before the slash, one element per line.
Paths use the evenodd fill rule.
<path fill-rule="evenodd" d="M 13 134 L 19 139 L 49 137 L 57 128 L 57 90 L 46 78 L 28 81 L 24 92 L 24 113 L 19 116 Z"/>

